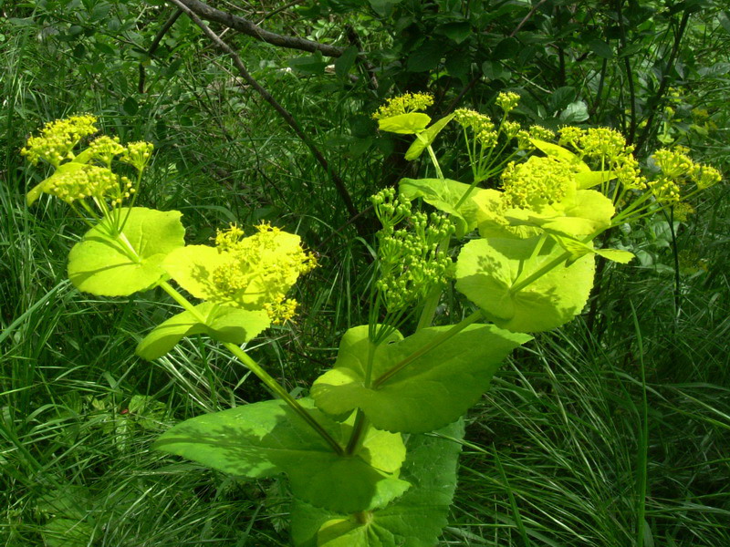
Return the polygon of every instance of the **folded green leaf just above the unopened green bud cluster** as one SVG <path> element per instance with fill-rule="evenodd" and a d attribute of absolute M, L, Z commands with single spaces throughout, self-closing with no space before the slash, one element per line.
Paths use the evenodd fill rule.
<path fill-rule="evenodd" d="M 439 211 L 450 214 L 456 226 L 456 237 L 463 237 L 476 227 L 476 204 L 473 197 L 483 190 L 473 188 L 458 209 L 456 208 L 456 203 L 469 188 L 468 184 L 451 179 L 401 179 L 398 184 L 401 195 L 407 200 L 422 198 Z"/>

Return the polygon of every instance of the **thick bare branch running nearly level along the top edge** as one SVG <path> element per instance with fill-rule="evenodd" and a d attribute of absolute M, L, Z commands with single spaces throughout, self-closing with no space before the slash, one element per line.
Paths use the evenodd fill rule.
<path fill-rule="evenodd" d="M 313 42 L 312 40 L 306 40 L 305 38 L 277 35 L 276 33 L 264 30 L 244 17 L 227 14 L 219 9 L 211 7 L 210 5 L 203 4 L 203 2 L 200 2 L 199 0 L 168 0 L 168 2 L 177 6 L 182 6 L 183 8 L 186 7 L 190 12 L 198 15 L 206 21 L 220 23 L 221 25 L 237 30 L 242 34 L 253 36 L 257 40 L 266 42 L 267 44 L 273 44 L 274 46 L 299 49 L 301 51 L 309 51 L 311 53 L 319 51 L 322 55 L 327 57 L 339 57 L 344 51 L 342 47 L 328 46 L 327 44 L 320 44 L 318 42 Z"/>

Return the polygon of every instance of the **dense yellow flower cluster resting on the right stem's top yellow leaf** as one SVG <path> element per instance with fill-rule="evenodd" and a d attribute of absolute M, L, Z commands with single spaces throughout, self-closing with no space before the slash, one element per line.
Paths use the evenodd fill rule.
<path fill-rule="evenodd" d="M 507 208 L 534 209 L 562 201 L 575 177 L 564 161 L 531 156 L 524 163 L 510 161 L 502 172 Z"/>

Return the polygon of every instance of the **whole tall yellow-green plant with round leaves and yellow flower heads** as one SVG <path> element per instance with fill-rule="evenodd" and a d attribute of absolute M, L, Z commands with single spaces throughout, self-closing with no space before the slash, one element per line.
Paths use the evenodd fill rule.
<path fill-rule="evenodd" d="M 657 151 L 647 176 L 611 129 L 522 129 L 508 119 L 515 94 L 497 99 L 496 123 L 462 109 L 432 124 L 421 111 L 431 103 L 401 96 L 374 115 L 381 130 L 415 137 L 406 157 L 427 151 L 435 177 L 403 179 L 372 198 L 382 230 L 369 324 L 342 336 L 334 366 L 301 399 L 242 348 L 295 313 L 287 292 L 317 266 L 297 235 L 262 224 L 246 236 L 231 225 L 214 246 L 185 245 L 180 212 L 134 206 L 150 144 L 102 136 L 77 154 L 97 130 L 91 116 L 49 123 L 22 150 L 54 168 L 28 202 L 55 195 L 89 224 L 68 257 L 79 290 L 122 296 L 159 286 L 180 304 L 144 337 L 139 356 L 153 360 L 185 336 L 208 335 L 277 397 L 184 421 L 155 448 L 236 476 L 287 474 L 296 545 L 433 545 L 454 495 L 464 413 L 528 333 L 580 313 L 596 255 L 631 260 L 596 238 L 720 181 L 686 150 Z M 469 183 L 445 178 L 433 151 L 452 121 L 464 135 Z M 116 161 L 136 180 L 116 174 Z M 449 284 L 472 311 L 432 326 Z"/>

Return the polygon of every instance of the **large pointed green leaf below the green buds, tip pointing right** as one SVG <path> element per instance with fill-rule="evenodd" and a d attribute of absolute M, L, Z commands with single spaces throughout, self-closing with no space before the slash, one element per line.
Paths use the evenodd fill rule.
<path fill-rule="evenodd" d="M 449 328 L 424 328 L 402 340 L 393 335 L 388 343 L 374 348 L 371 377 L 381 377 Z M 368 387 L 368 326 L 356 326 L 342 337 L 334 368 L 318 377 L 311 395 L 318 408 L 329 414 L 361 408 L 375 428 L 433 431 L 472 407 L 489 387 L 502 360 L 529 339 L 495 325 L 470 325 L 377 387 Z"/>

